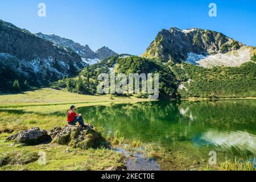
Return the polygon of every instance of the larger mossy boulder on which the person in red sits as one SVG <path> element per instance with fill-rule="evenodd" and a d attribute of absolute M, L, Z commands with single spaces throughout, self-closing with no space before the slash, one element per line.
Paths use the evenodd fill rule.
<path fill-rule="evenodd" d="M 74 148 L 97 148 L 104 146 L 106 140 L 92 125 L 86 127 L 67 125 L 64 128 L 59 126 L 49 131 L 54 142 L 68 145 Z"/>

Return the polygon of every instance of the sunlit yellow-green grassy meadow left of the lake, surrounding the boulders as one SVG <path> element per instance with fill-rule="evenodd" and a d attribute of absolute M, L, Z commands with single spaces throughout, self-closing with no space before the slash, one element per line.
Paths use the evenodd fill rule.
<path fill-rule="evenodd" d="M 55 143 L 22 146 L 7 142 L 6 138 L 31 127 L 49 131 L 55 126 L 67 125 L 65 111 L 71 104 L 84 107 L 148 101 L 135 97 L 86 96 L 47 88 L 20 94 L 0 94 L 0 100 L 0 130 L 3 131 L 0 132 L 0 159 L 8 162 L 5 165 L 0 163 L 0 171 L 122 168 L 125 162 L 123 156 L 106 148 L 80 150 Z M 47 165 L 38 164 L 35 156 L 39 151 L 46 152 Z M 28 158 L 31 160 L 27 160 Z"/>

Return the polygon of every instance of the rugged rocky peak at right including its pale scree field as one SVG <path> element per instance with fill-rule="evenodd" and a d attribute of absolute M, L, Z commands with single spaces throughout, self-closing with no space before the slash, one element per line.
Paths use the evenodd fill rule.
<path fill-rule="evenodd" d="M 187 61 L 199 64 L 197 62 L 203 60 L 207 61 L 204 65 L 237 66 L 250 61 L 251 48 L 241 49 L 242 47 L 245 47 L 245 44 L 221 32 L 201 28 L 181 30 L 172 27 L 169 30 L 161 30 L 142 56 L 160 59 L 163 62 Z M 238 54 L 232 51 L 237 51 Z M 226 53 L 232 55 L 230 59 L 226 59 Z"/>

